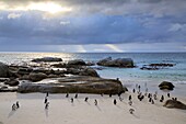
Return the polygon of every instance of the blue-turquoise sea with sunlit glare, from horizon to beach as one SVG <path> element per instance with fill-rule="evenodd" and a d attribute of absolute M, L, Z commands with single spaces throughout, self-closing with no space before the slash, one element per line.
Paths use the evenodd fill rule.
<path fill-rule="evenodd" d="M 129 90 L 138 83 L 141 86 L 147 84 L 151 92 L 159 91 L 161 93 L 162 91 L 159 90 L 158 86 L 161 81 L 166 80 L 175 84 L 175 89 L 171 93 L 186 97 L 186 53 L 0 53 L 0 61 L 5 64 L 23 64 L 33 58 L 60 57 L 63 61 L 83 59 L 96 63 L 109 56 L 113 58 L 132 58 L 137 67 L 103 67 L 102 70 L 96 70 L 101 77 L 119 78 Z M 170 63 L 176 64 L 176 66 L 160 70 L 140 69 L 143 65 L 152 63 Z"/>

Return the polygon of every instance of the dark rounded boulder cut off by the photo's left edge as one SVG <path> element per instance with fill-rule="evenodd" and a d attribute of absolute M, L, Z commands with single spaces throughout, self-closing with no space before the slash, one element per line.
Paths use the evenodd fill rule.
<path fill-rule="evenodd" d="M 3 63 L 0 63 L 0 77 L 1 78 L 9 77 L 9 67 Z"/>

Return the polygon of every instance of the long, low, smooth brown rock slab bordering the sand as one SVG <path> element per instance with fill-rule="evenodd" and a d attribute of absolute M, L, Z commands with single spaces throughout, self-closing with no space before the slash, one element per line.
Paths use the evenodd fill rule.
<path fill-rule="evenodd" d="M 46 83 L 45 83 L 46 82 Z M 119 93 L 125 92 L 119 80 L 103 79 L 89 76 L 72 76 L 56 79 L 53 83 L 48 79 L 40 83 L 22 83 L 18 91 L 22 93 L 27 92 L 50 92 L 50 93 Z"/>

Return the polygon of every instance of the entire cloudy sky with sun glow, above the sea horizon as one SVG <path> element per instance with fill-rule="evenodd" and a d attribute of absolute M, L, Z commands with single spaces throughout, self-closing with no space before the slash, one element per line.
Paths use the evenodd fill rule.
<path fill-rule="evenodd" d="M 0 0 L 0 52 L 186 52 L 186 0 Z"/>

